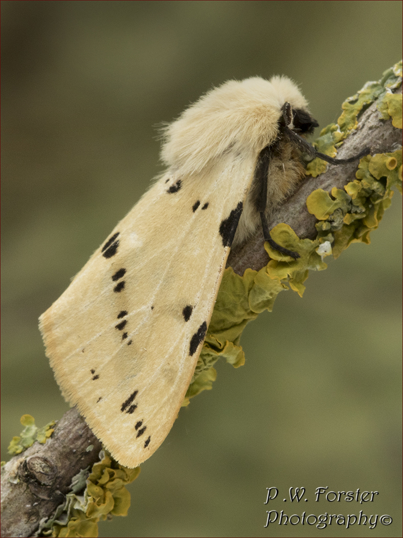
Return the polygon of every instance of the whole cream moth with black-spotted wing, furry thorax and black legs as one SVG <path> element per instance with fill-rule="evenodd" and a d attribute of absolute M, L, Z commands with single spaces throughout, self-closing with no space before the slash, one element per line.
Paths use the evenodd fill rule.
<path fill-rule="evenodd" d="M 285 76 L 214 88 L 164 130 L 166 171 L 40 317 L 62 394 L 119 463 L 161 445 L 197 363 L 231 246 L 304 175 L 318 123 Z"/>

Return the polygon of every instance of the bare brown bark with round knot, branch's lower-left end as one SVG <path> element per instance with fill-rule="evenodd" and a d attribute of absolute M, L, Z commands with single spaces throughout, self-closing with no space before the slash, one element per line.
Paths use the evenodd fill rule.
<path fill-rule="evenodd" d="M 57 422 L 53 435 L 35 441 L 2 467 L 2 536 L 31 536 L 42 518 L 63 502 L 71 479 L 99 460 L 102 445 L 75 408 Z"/>

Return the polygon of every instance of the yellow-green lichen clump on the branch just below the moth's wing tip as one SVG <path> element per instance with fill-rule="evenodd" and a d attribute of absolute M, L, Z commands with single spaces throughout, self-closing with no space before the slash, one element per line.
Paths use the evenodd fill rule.
<path fill-rule="evenodd" d="M 35 536 L 98 536 L 99 520 L 127 515 L 130 493 L 125 486 L 139 476 L 140 468 L 123 467 L 106 451 L 100 457 L 91 472 L 87 468 L 73 478 L 65 502 L 41 522 Z"/>

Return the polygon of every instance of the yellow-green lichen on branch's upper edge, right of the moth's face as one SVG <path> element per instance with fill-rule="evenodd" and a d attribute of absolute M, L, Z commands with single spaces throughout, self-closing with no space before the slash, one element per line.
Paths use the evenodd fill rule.
<path fill-rule="evenodd" d="M 370 104 L 377 101 L 377 108 L 383 119 L 392 118 L 392 125 L 402 128 L 401 94 L 393 94 L 392 90 L 398 88 L 402 82 L 402 62 L 398 62 L 387 69 L 377 82 L 367 82 L 355 95 L 349 97 L 343 104 L 343 112 L 337 124 L 328 125 L 315 140 L 316 149 L 335 157 L 337 147 L 343 143 L 348 134 L 357 128 L 358 116 Z M 313 159 L 306 167 L 306 174 L 314 178 L 325 172 L 327 164 L 321 159 Z"/>

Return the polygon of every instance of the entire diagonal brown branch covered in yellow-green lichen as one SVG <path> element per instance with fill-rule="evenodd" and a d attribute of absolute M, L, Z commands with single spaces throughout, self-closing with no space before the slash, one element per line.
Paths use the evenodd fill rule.
<path fill-rule="evenodd" d="M 273 211 L 269 224 L 274 228 L 274 239 L 298 251 L 300 259 L 279 256 L 264 245 L 261 232 L 247 245 L 231 251 L 228 266 L 232 269 L 225 271 L 217 298 L 219 308 L 214 310 L 184 404 L 211 388 L 215 379 L 212 365 L 220 356 L 234 366 L 243 364 L 239 346 L 242 329 L 262 310 L 271 310 L 279 291 L 291 287 L 302 295 L 308 270 L 325 268 L 323 257 L 332 249 L 338 256 L 352 242 L 369 242 L 369 231 L 377 227 L 390 203 L 391 186 L 401 185 L 401 71 L 399 63 L 380 81 L 366 84 L 343 103 L 338 124 L 324 129 L 316 141 L 322 153 L 334 156 L 337 148 L 338 158 L 352 157 L 369 147 L 370 155 L 361 160 L 358 171 L 358 162 L 335 166 L 315 159 L 307 167 L 310 175 L 298 190 Z M 233 297 L 236 311 L 228 306 Z M 100 449 L 82 417 L 70 409 L 45 444 L 36 441 L 13 457 L 2 468 L 1 536 L 32 536 L 39 522 L 66 499 L 71 480 L 80 469 L 99 462 Z M 74 525 L 81 525 L 82 534 L 74 534 L 76 527 L 68 521 L 64 527 L 59 521 L 55 536 L 93 536 L 99 514 L 124 513 L 118 505 L 125 495 L 113 493 L 112 484 L 117 480 L 127 483 L 138 470 L 127 470 L 125 475 L 121 466 L 112 468 L 109 464 L 109 475 L 105 470 L 93 472 L 95 478 L 92 482 L 87 479 L 82 507 L 65 510 L 74 514 Z M 101 487 L 102 480 L 112 492 L 109 497 Z M 51 528 L 43 534 L 49 532 Z"/>

